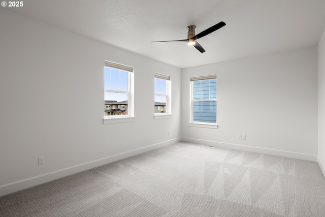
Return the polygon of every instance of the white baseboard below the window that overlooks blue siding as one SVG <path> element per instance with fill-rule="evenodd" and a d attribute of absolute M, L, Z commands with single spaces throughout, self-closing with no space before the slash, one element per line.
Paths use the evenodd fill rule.
<path fill-rule="evenodd" d="M 193 138 L 188 138 L 188 137 L 182 137 L 182 141 L 192 142 L 192 143 L 200 143 L 200 144 L 204 144 L 204 145 L 212 145 L 212 146 L 222 147 L 222 148 L 230 148 L 230 149 L 238 149 L 238 150 L 243 150 L 243 151 L 271 154 L 274 156 L 280 156 L 280 157 L 285 157 L 285 158 L 295 158 L 295 159 L 314 161 L 314 162 L 317 161 L 317 156 L 315 156 L 315 155 L 292 152 L 292 151 L 253 147 L 253 146 L 248 146 L 248 145 L 239 145 L 239 144 L 233 144 L 233 143 L 227 143 L 227 142 L 217 142 L 217 141 L 203 140 L 203 139 L 193 139 Z"/>

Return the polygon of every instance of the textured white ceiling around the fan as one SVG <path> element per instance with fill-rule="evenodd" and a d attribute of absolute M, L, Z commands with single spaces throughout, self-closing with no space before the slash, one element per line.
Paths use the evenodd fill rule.
<path fill-rule="evenodd" d="M 324 0 L 28 0 L 6 9 L 179 68 L 317 45 L 325 27 Z M 226 26 L 198 40 L 205 53 L 151 43 L 220 21 Z"/>

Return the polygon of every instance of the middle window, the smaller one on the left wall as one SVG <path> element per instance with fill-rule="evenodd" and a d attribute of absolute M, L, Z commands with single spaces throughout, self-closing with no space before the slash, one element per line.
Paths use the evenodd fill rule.
<path fill-rule="evenodd" d="M 155 116 L 171 115 L 171 78 L 154 73 L 154 113 Z M 155 119 L 158 119 L 158 117 Z"/>

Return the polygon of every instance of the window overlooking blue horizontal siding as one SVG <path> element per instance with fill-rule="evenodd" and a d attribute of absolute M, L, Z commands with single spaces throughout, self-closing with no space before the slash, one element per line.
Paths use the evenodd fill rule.
<path fill-rule="evenodd" d="M 191 78 L 191 123 L 214 124 L 217 122 L 216 75 Z"/>

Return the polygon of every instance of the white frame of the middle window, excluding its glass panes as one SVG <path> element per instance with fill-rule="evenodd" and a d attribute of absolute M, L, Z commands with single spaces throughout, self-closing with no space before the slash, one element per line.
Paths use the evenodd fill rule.
<path fill-rule="evenodd" d="M 160 73 L 155 72 L 154 73 L 154 84 L 155 84 L 155 78 L 166 80 L 166 95 L 165 94 L 156 94 L 155 89 L 154 89 L 154 97 L 155 96 L 166 97 L 166 106 L 165 106 L 166 112 L 156 113 L 154 111 L 153 117 L 154 117 L 154 119 L 171 118 L 172 117 L 172 78 L 169 75 L 160 74 Z M 155 103 L 155 100 L 153 98 L 153 104 L 154 103 Z"/>

